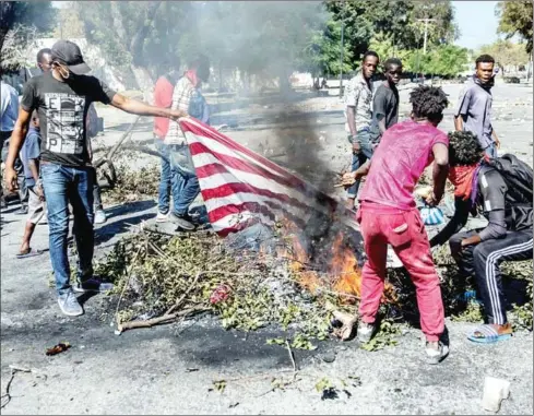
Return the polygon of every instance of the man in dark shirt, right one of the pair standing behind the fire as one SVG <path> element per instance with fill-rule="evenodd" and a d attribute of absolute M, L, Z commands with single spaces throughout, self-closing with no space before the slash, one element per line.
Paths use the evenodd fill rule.
<path fill-rule="evenodd" d="M 385 81 L 378 86 L 372 99 L 370 139 L 373 147 L 378 146 L 384 131 L 399 120 L 399 90 L 396 85 L 401 81 L 402 62 L 400 59 L 390 58 L 383 67 Z"/>

